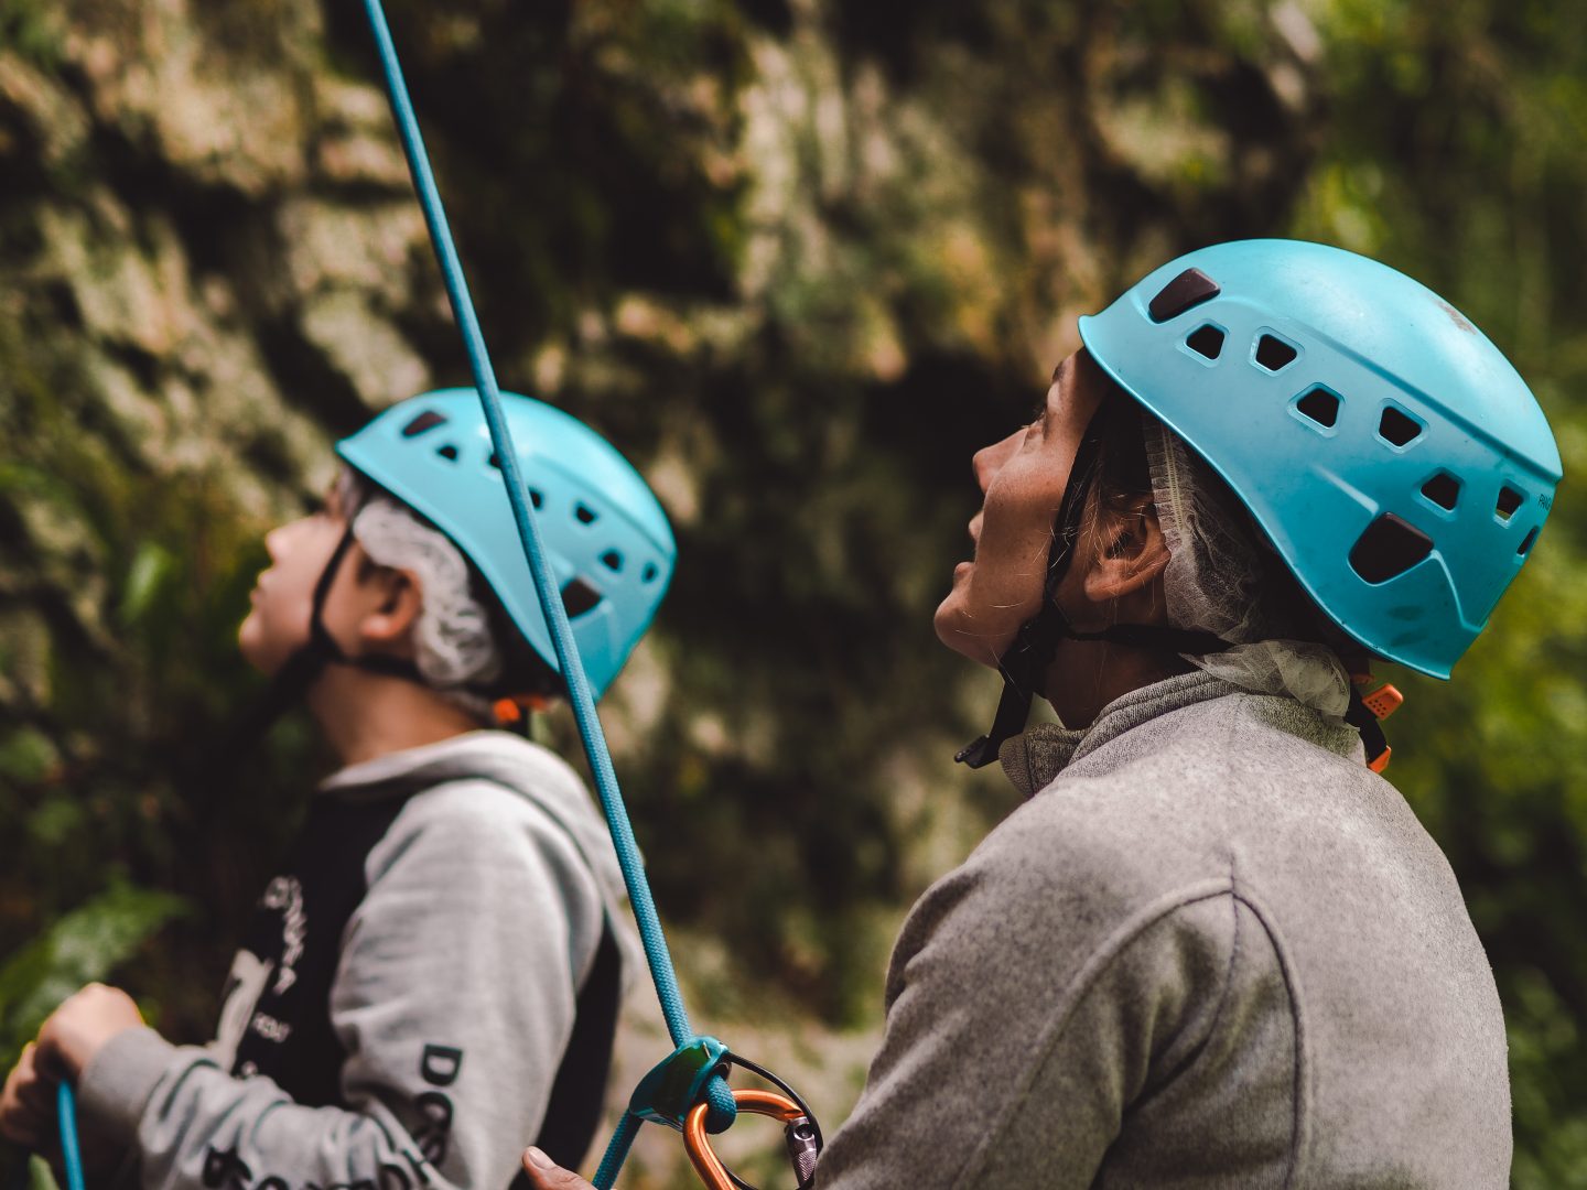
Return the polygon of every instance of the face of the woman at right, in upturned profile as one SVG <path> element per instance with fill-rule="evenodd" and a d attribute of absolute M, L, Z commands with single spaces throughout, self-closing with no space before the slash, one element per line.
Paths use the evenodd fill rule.
<path fill-rule="evenodd" d="M 1052 373 L 1030 425 L 976 452 L 981 511 L 970 520 L 974 560 L 954 568 L 954 587 L 936 609 L 936 636 L 974 662 L 997 666 L 1019 627 L 1041 608 L 1052 522 L 1086 427 L 1106 392 L 1079 351 Z"/>

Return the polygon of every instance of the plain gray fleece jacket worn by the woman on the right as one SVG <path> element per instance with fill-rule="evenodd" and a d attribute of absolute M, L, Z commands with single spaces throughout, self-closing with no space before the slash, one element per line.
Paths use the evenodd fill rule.
<path fill-rule="evenodd" d="M 820 1190 L 1508 1184 L 1493 976 L 1354 728 L 1197 673 L 1003 762 Z"/>

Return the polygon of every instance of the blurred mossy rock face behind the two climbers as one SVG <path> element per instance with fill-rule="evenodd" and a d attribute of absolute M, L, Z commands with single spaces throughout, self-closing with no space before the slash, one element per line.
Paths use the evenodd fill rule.
<path fill-rule="evenodd" d="M 990 685 L 927 628 L 970 452 L 1076 313 L 1282 227 L 1317 36 L 1290 5 L 1125 0 L 390 17 L 505 387 L 601 427 L 678 522 L 608 709 L 660 903 L 724 971 L 871 1019 L 897 906 L 1006 804 L 955 792 Z M 360 21 L 0 14 L 0 822 L 83 857 L 0 874 L 0 942 L 106 865 L 206 890 L 144 958 L 194 988 L 162 992 L 176 1030 L 311 763 L 292 724 L 225 789 L 181 779 L 249 689 L 260 532 L 336 435 L 468 374 Z"/>

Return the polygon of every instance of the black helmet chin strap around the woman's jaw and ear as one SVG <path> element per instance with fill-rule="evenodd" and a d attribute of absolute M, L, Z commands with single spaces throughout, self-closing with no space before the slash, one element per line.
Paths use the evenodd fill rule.
<path fill-rule="evenodd" d="M 970 768 L 990 765 L 997 760 L 1003 743 L 1025 730 L 1030 701 L 1046 682 L 1047 668 L 1059 651 L 1059 641 L 1111 641 L 1136 649 L 1193 654 L 1220 652 L 1230 647 L 1228 641 L 1209 631 L 1168 628 L 1155 624 L 1114 624 L 1101 631 L 1079 631 L 1059 606 L 1059 584 L 1063 582 L 1070 562 L 1074 559 L 1074 546 L 1081 536 L 1081 514 L 1086 511 L 1086 500 L 1097 474 L 1097 457 L 1101 452 L 1100 422 L 1101 411 L 1098 408 L 1074 452 L 1070 482 L 1063 490 L 1063 503 L 1059 505 L 1059 516 L 1052 527 L 1052 546 L 1047 549 L 1047 578 L 1041 592 L 1041 611 L 1020 625 L 1014 643 L 998 658 L 998 670 L 1003 673 L 1003 697 L 998 700 L 992 730 L 962 747 L 954 757 Z"/>

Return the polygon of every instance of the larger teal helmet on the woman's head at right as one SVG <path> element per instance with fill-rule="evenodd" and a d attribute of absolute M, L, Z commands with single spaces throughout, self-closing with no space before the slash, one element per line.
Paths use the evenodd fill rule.
<path fill-rule="evenodd" d="M 1449 676 L 1562 478 L 1543 409 L 1482 332 L 1387 265 L 1289 240 L 1182 255 L 1079 327 L 1346 633 Z"/>

